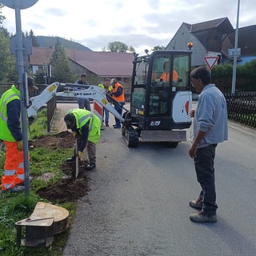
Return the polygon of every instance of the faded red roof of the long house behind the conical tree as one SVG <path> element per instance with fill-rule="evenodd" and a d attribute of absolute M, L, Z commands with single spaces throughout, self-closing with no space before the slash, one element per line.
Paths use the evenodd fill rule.
<path fill-rule="evenodd" d="M 100 77 L 131 78 L 134 54 L 65 49 L 71 61 Z M 53 48 L 33 47 L 30 65 L 49 64 Z"/>

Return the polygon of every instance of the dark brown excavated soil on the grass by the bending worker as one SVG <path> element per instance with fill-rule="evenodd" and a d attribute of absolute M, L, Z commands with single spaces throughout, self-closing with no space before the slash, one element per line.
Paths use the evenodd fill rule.
<path fill-rule="evenodd" d="M 74 147 L 74 139 L 72 134 L 68 131 L 61 132 L 56 135 L 47 135 L 42 138 L 38 138 L 35 142 L 29 143 L 30 148 L 44 147 L 49 151 L 54 151 L 58 148 L 66 149 Z M 88 163 L 79 161 L 79 170 L 85 170 Z M 50 202 L 76 202 L 79 198 L 86 195 L 89 190 L 88 179 L 86 178 L 85 171 L 81 171 L 78 174 L 78 178 L 74 178 L 75 174 L 75 162 L 63 162 L 60 166 L 64 173 L 63 178 L 59 179 L 54 184 L 43 187 L 38 190 L 37 193 L 42 198 L 46 198 Z M 53 174 L 42 174 L 41 177 L 44 180 L 52 178 Z"/>

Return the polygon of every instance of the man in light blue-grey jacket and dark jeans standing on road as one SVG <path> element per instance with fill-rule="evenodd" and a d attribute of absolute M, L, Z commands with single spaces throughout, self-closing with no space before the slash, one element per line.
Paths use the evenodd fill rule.
<path fill-rule="evenodd" d="M 200 93 L 196 110 L 190 111 L 194 117 L 193 138 L 190 146 L 190 158 L 194 166 L 201 192 L 197 200 L 191 200 L 190 206 L 200 210 L 190 214 L 193 222 L 217 222 L 214 158 L 219 142 L 227 140 L 226 99 L 214 84 L 210 84 L 210 72 L 200 66 L 190 73 L 192 85 Z"/>

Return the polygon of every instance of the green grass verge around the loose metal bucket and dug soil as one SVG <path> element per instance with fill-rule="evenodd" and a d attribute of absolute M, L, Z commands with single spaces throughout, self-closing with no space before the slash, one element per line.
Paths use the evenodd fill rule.
<path fill-rule="evenodd" d="M 42 137 L 46 134 L 46 110 L 38 113 L 38 118 L 30 126 L 30 140 Z M 62 178 L 62 170 L 59 166 L 65 161 L 73 149 L 49 151 L 44 148 L 36 148 L 30 150 L 30 174 L 32 176 L 40 176 L 46 172 L 54 174 L 49 183 L 54 183 Z M 0 178 L 3 174 L 3 166 L 5 162 L 5 152 L 0 150 Z M 49 184 L 47 183 L 47 184 Z M 49 247 L 29 247 L 16 246 L 16 227 L 15 222 L 30 217 L 37 202 L 47 202 L 46 199 L 40 198 L 36 191 L 47 185 L 45 181 L 35 179 L 30 184 L 30 194 L 25 193 L 11 194 L 0 193 L 0 255 L 1 256 L 61 256 L 63 247 L 69 230 L 65 230 L 61 234 L 54 235 L 54 242 Z M 58 206 L 65 207 L 69 210 L 71 222 L 74 215 L 75 204 L 66 202 Z M 23 231 L 24 233 L 24 231 Z M 22 237 L 23 238 L 23 237 Z"/>

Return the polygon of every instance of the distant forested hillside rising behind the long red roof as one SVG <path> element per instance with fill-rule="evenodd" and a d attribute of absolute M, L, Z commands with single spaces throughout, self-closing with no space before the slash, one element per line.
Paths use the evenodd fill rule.
<path fill-rule="evenodd" d="M 67 40 L 65 38 L 60 38 L 60 37 L 47 37 L 47 36 L 36 36 L 38 40 L 39 47 L 52 47 L 54 48 L 55 43 L 57 41 L 61 42 L 62 46 L 66 49 L 75 49 L 75 50 L 90 50 L 90 48 L 83 46 L 82 44 L 78 42 L 72 42 L 70 40 Z"/>

